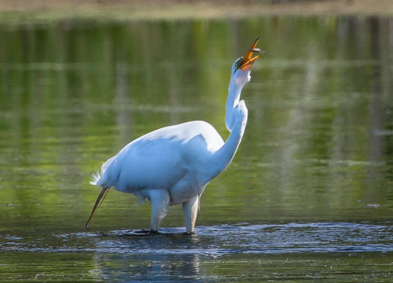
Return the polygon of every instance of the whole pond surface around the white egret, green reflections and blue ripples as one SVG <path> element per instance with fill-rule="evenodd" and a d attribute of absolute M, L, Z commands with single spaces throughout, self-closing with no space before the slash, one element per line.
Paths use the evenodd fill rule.
<path fill-rule="evenodd" d="M 393 19 L 0 25 L 0 280 L 392 282 Z M 150 207 L 91 173 L 156 128 L 223 135 L 233 61 L 268 54 L 239 150 L 157 235 Z"/>

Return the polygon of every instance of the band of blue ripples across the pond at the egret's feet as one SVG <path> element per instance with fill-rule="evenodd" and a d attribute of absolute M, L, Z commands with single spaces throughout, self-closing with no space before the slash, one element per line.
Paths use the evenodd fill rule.
<path fill-rule="evenodd" d="M 134 230 L 63 233 L 47 237 L 8 235 L 2 251 L 114 254 L 211 255 L 232 253 L 355 253 L 393 251 L 392 223 L 289 223 L 198 226 L 196 234 L 163 228 L 150 235 Z"/>

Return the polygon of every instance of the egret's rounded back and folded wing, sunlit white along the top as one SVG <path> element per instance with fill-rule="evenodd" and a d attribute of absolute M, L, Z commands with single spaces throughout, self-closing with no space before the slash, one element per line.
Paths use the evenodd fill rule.
<path fill-rule="evenodd" d="M 127 144 L 104 163 L 102 176 L 93 184 L 129 193 L 169 189 L 186 174 L 203 170 L 201 164 L 223 144 L 216 129 L 204 121 L 164 127 Z"/>

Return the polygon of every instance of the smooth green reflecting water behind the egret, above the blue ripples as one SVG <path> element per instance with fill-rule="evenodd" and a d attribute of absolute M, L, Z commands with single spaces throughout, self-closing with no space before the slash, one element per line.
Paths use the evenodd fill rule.
<path fill-rule="evenodd" d="M 146 132 L 203 119 L 226 138 L 229 70 L 256 36 L 269 54 L 243 91 L 249 125 L 233 164 L 203 195 L 200 223 L 390 219 L 390 23 L 314 16 L 3 26 L 2 228 L 64 218 L 63 227 L 82 227 L 98 193 L 90 173 Z M 101 225 L 101 217 L 147 225 L 147 205 L 117 192 L 106 202 Z M 182 226 L 173 209 L 164 225 Z"/>

